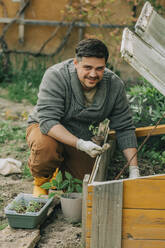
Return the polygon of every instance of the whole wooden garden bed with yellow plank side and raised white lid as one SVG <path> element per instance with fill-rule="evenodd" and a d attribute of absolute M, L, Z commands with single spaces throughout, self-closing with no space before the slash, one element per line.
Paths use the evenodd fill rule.
<path fill-rule="evenodd" d="M 121 52 L 155 88 L 165 95 L 165 20 L 146 2 L 135 33 L 124 30 Z M 165 134 L 165 125 L 136 129 L 137 137 Z M 115 149 L 101 155 L 99 165 L 83 184 L 82 240 L 86 248 L 164 248 L 165 174 L 137 179 L 105 180 Z"/>

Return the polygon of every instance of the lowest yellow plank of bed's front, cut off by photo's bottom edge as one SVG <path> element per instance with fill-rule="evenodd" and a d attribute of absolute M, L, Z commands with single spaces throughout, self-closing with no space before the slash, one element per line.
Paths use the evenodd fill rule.
<path fill-rule="evenodd" d="M 164 248 L 165 240 L 122 240 L 122 248 Z"/>

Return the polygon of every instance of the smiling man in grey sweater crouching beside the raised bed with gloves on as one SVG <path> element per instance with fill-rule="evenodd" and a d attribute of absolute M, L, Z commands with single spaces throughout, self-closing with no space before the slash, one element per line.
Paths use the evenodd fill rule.
<path fill-rule="evenodd" d="M 34 177 L 34 195 L 47 194 L 40 186 L 58 168 L 83 179 L 94 158 L 103 152 L 91 141 L 89 126 L 110 119 L 119 148 L 126 159 L 136 153 L 135 127 L 121 79 L 106 68 L 109 52 L 97 39 L 76 47 L 75 58 L 50 67 L 42 79 L 37 105 L 28 119 L 28 165 Z M 137 156 L 129 166 L 139 176 Z"/>

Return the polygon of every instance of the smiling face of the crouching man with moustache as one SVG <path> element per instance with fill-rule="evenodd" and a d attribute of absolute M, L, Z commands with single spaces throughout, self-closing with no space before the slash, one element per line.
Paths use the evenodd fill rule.
<path fill-rule="evenodd" d="M 103 78 L 105 59 L 82 57 L 81 61 L 74 59 L 78 78 L 85 90 L 93 89 Z"/>

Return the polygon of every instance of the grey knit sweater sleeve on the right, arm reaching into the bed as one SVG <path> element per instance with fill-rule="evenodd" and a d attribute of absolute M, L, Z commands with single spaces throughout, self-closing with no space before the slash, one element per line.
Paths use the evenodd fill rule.
<path fill-rule="evenodd" d="M 110 127 L 116 131 L 118 146 L 122 151 L 126 148 L 137 147 L 135 126 L 133 125 L 123 83 L 121 83 L 111 112 Z"/>

